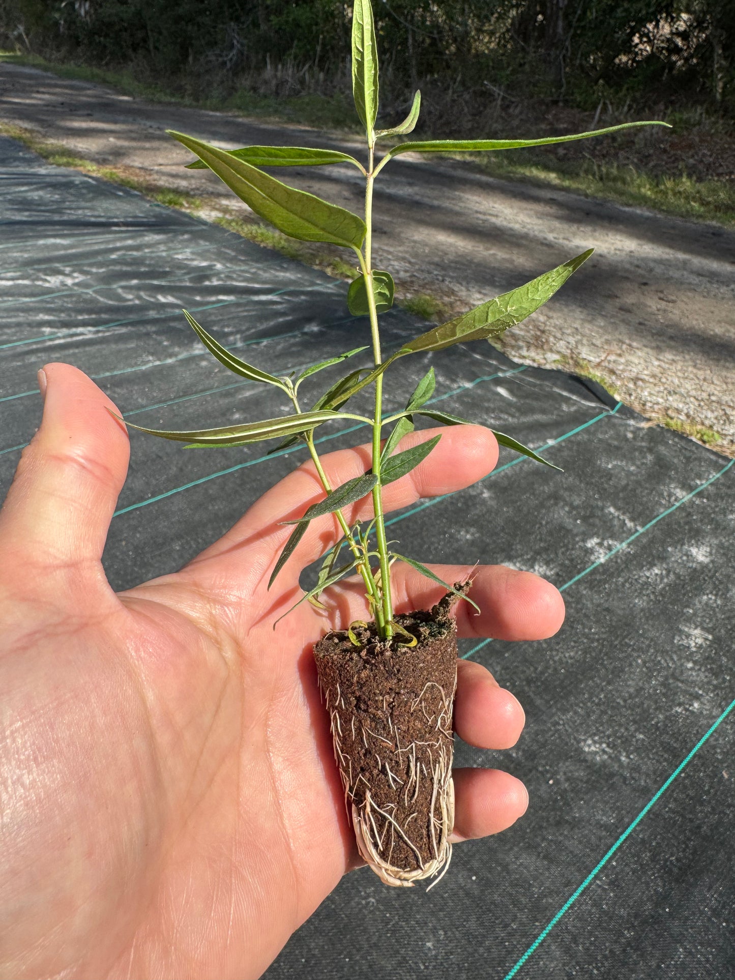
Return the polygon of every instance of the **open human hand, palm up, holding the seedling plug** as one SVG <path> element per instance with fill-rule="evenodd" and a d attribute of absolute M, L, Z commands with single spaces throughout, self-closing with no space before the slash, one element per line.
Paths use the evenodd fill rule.
<path fill-rule="evenodd" d="M 309 463 L 181 571 L 116 595 L 100 560 L 127 435 L 76 368 L 45 376 L 43 421 L 0 512 L 0 975 L 257 977 L 360 862 L 312 645 L 366 618 L 362 589 L 348 581 L 328 614 L 305 603 L 272 630 L 339 533 L 332 516 L 313 521 L 267 590 L 290 533 L 279 522 L 323 496 Z M 385 489 L 386 511 L 495 465 L 488 430 L 441 432 Z M 336 486 L 369 457 L 363 446 L 322 463 Z M 448 581 L 469 570 L 434 567 Z M 393 570 L 398 613 L 440 598 Z M 472 596 L 482 614 L 461 604 L 461 636 L 540 639 L 564 618 L 552 585 L 501 566 L 476 569 Z M 522 725 L 513 695 L 460 662 L 458 734 L 504 749 Z M 455 770 L 455 786 L 455 840 L 503 830 L 527 805 L 498 770 Z"/>

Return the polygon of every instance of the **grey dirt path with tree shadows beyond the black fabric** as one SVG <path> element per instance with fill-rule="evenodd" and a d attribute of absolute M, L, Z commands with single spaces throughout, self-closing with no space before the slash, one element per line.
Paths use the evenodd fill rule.
<path fill-rule="evenodd" d="M 208 217 L 231 213 L 233 199 L 212 174 L 182 169 L 189 155 L 166 128 L 226 148 L 273 143 L 360 153 L 351 137 L 141 102 L 10 65 L 0 65 L 0 120 L 95 163 L 206 194 Z M 289 170 L 287 179 L 361 207 L 354 168 Z M 711 429 L 721 436 L 714 447 L 735 456 L 735 232 L 418 157 L 391 163 L 376 190 L 375 264 L 393 272 L 404 295 L 427 292 L 452 311 L 590 245 L 597 252 L 584 270 L 510 331 L 503 350 L 528 364 L 597 373 L 644 415 Z"/>

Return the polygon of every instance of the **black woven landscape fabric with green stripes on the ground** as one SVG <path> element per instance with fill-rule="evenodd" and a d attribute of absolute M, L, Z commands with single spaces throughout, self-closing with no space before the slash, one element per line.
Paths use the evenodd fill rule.
<path fill-rule="evenodd" d="M 45 362 L 91 374 L 130 421 L 198 428 L 281 408 L 270 387 L 215 362 L 181 307 L 276 372 L 368 342 L 344 283 L 221 228 L 5 138 L 0 180 L 3 494 L 38 424 Z M 540 271 L 518 270 L 508 288 Z M 394 310 L 384 347 L 423 328 Z M 402 361 L 400 391 L 387 375 L 390 405 L 430 363 Z M 267 976 L 732 978 L 735 711 L 721 716 L 735 697 L 735 468 L 594 385 L 515 365 L 485 342 L 436 366 L 442 408 L 564 467 L 504 450 L 482 482 L 390 521 L 420 561 L 510 564 L 564 587 L 557 637 L 463 641 L 527 722 L 514 750 L 459 744 L 458 764 L 508 768 L 530 807 L 508 832 L 457 847 L 428 894 L 348 875 Z M 319 432 L 324 450 L 367 438 L 357 426 Z M 178 568 L 303 458 L 130 438 L 105 554 L 116 588 Z"/>

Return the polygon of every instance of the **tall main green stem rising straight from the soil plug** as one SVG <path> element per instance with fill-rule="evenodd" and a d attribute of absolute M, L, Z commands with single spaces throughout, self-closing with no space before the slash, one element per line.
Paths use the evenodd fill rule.
<path fill-rule="evenodd" d="M 375 295 L 372 291 L 372 161 L 373 148 L 369 147 L 368 176 L 365 188 L 365 223 L 367 232 L 365 236 L 365 256 L 358 253 L 360 264 L 365 276 L 366 293 L 368 295 L 368 312 L 370 317 L 370 333 L 372 336 L 372 355 L 377 367 L 381 362 L 380 353 L 380 333 L 377 325 L 377 311 L 375 310 Z M 377 539 L 377 552 L 380 559 L 380 595 L 383 614 L 383 626 L 379 627 L 379 633 L 384 639 L 390 639 L 393 635 L 393 603 L 390 589 L 390 567 L 388 560 L 388 544 L 385 537 L 385 518 L 383 516 L 383 501 L 380 484 L 380 433 L 382 429 L 382 409 L 383 409 L 383 376 L 379 374 L 375 378 L 375 412 L 372 419 L 372 472 L 377 477 L 377 483 L 372 489 L 372 505 L 375 512 L 375 537 Z M 376 619 L 377 621 L 377 619 Z"/>

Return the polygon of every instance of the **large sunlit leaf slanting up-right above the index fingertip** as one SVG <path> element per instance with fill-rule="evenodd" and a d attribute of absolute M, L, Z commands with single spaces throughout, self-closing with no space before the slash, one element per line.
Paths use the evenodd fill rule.
<path fill-rule="evenodd" d="M 397 356 L 401 357 L 417 351 L 440 351 L 445 347 L 451 347 L 452 344 L 464 343 L 466 340 L 497 337 L 543 306 L 564 285 L 572 272 L 589 259 L 593 251 L 594 249 L 587 249 L 576 258 L 565 262 L 563 266 L 544 272 L 543 275 L 531 279 L 517 289 L 475 307 L 463 317 L 435 326 L 408 344 L 404 344 Z"/>

